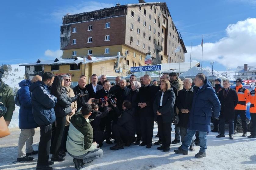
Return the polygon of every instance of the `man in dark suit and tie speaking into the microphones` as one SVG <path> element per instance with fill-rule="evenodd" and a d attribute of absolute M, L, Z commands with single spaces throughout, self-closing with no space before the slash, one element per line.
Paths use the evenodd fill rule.
<path fill-rule="evenodd" d="M 108 80 L 103 81 L 103 89 L 98 90 L 96 92 L 96 99 L 101 100 L 101 98 L 103 97 L 111 97 L 113 94 L 112 92 L 110 92 L 110 82 Z M 108 103 L 110 103 L 110 101 L 108 101 Z M 108 106 L 108 116 L 104 117 L 101 119 L 101 131 L 106 131 L 108 134 L 108 137 L 106 139 L 106 143 L 107 144 L 113 144 L 112 141 L 110 141 L 110 137 L 111 137 L 111 131 L 112 131 L 112 117 L 113 117 L 113 106 L 111 104 L 109 104 Z M 102 108 L 99 108 L 99 110 L 102 112 Z"/>

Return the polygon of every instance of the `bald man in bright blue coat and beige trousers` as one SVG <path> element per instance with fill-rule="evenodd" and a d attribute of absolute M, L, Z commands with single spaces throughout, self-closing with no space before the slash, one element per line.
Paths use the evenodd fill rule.
<path fill-rule="evenodd" d="M 19 127 L 20 127 L 20 137 L 18 142 L 18 155 L 17 161 L 32 161 L 33 157 L 28 157 L 29 155 L 35 155 L 38 151 L 34 151 L 33 144 L 33 136 L 35 134 L 35 128 L 38 126 L 34 120 L 34 116 L 32 114 L 32 105 L 31 105 L 31 97 L 29 87 L 31 83 L 42 81 L 41 76 L 34 76 L 33 79 L 30 80 L 22 80 L 19 83 L 20 90 L 18 90 L 18 100 L 20 102 L 20 110 L 19 110 Z M 26 154 L 24 153 L 26 143 Z"/>

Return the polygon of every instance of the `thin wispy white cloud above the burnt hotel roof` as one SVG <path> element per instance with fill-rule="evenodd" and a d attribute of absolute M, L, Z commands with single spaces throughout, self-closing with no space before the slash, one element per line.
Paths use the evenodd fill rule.
<path fill-rule="evenodd" d="M 62 17 L 66 14 L 78 14 L 82 12 L 94 11 L 98 9 L 108 8 L 116 6 L 111 3 L 102 3 L 102 2 L 95 2 L 95 1 L 84 1 L 79 4 L 74 4 L 74 6 L 68 6 L 66 8 L 61 8 L 53 12 L 52 18 L 57 20 L 58 22 L 62 21 Z"/>

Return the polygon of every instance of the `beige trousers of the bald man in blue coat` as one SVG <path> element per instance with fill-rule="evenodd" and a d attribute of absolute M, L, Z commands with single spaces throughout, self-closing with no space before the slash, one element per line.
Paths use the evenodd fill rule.
<path fill-rule="evenodd" d="M 33 136 L 35 134 L 35 129 L 21 129 L 20 137 L 18 142 L 18 156 L 17 158 L 23 158 L 26 156 L 24 153 L 25 150 L 25 143 L 26 143 L 26 153 L 31 153 L 34 151 L 32 144 L 33 144 Z"/>

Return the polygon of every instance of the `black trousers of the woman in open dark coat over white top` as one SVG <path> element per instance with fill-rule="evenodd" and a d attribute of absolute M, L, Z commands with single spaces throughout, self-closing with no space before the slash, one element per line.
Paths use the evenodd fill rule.
<path fill-rule="evenodd" d="M 157 116 L 157 128 L 159 139 L 163 142 L 164 147 L 169 148 L 171 145 L 172 125 L 170 122 L 164 123 L 162 115 Z"/>

